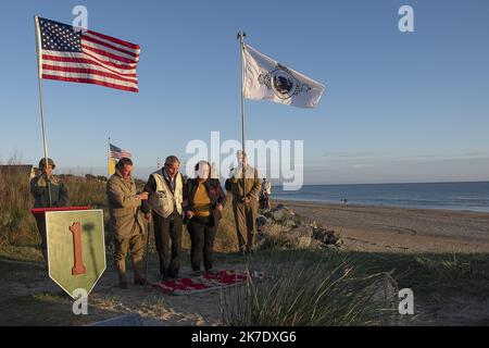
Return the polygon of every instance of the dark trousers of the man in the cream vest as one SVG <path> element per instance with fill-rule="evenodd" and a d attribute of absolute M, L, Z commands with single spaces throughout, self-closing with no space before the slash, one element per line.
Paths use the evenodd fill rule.
<path fill-rule="evenodd" d="M 154 243 L 160 258 L 160 274 L 177 277 L 180 269 L 183 221 L 174 211 L 168 217 L 153 213 Z M 172 246 L 170 246 L 172 240 Z"/>

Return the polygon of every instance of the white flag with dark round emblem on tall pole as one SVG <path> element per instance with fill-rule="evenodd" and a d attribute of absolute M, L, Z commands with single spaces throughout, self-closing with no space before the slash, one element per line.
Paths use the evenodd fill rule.
<path fill-rule="evenodd" d="M 249 45 L 243 51 L 243 96 L 298 108 L 315 108 L 324 86 L 260 53 Z"/>

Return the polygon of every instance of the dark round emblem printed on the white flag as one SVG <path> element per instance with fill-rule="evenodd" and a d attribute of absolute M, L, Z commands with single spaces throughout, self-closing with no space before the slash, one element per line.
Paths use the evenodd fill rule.
<path fill-rule="evenodd" d="M 266 74 L 260 74 L 259 83 L 265 85 L 284 100 L 311 90 L 308 84 L 301 83 L 289 69 L 281 64 L 277 64 L 273 71 Z"/>

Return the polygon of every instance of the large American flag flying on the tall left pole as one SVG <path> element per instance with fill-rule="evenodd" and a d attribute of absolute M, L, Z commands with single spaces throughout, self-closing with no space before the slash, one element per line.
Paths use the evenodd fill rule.
<path fill-rule="evenodd" d="M 137 92 L 139 46 L 36 17 L 40 77 Z"/>

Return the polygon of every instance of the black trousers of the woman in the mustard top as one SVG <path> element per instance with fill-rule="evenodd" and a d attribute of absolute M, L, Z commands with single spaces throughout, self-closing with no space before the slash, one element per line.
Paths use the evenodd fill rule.
<path fill-rule="evenodd" d="M 214 240 L 217 232 L 217 226 L 213 223 L 213 217 L 193 216 L 187 225 L 190 234 L 191 248 L 190 261 L 193 271 L 200 271 L 200 263 L 202 261 L 205 271 L 212 269 Z"/>

